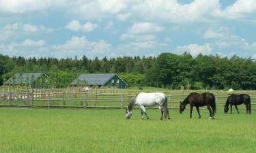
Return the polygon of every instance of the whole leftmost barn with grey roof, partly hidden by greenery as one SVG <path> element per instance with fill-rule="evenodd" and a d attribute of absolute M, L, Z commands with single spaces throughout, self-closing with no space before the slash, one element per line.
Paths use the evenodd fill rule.
<path fill-rule="evenodd" d="M 45 73 L 16 73 L 5 85 L 26 86 L 29 85 L 32 88 L 47 88 L 48 76 Z"/>

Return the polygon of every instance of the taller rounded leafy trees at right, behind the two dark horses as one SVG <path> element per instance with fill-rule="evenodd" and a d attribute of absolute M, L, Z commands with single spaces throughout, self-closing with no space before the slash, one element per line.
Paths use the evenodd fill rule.
<path fill-rule="evenodd" d="M 193 58 L 162 53 L 146 73 L 150 86 L 168 88 L 256 89 L 256 63 L 251 58 L 199 54 Z"/>

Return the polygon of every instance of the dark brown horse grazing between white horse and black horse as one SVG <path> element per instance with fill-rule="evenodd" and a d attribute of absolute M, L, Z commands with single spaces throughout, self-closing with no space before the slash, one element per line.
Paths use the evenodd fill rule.
<path fill-rule="evenodd" d="M 188 104 L 190 105 L 190 118 L 192 118 L 192 111 L 194 106 L 197 108 L 199 118 L 201 118 L 199 107 L 206 105 L 210 112 L 209 120 L 214 119 L 214 115 L 216 112 L 216 102 L 214 94 L 210 92 L 203 92 L 202 94 L 199 94 L 197 92 L 190 93 L 190 95 L 188 95 L 188 97 L 186 97 L 183 102 L 180 101 L 180 114 L 182 114 L 182 112 L 186 108 L 186 105 Z"/>

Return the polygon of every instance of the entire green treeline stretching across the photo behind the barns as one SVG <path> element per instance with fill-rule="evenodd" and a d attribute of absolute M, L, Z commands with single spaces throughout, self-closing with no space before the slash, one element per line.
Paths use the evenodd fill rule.
<path fill-rule="evenodd" d="M 218 55 L 196 57 L 162 53 L 156 57 L 24 58 L 0 54 L 0 84 L 14 73 L 44 72 L 55 87 L 65 87 L 81 73 L 118 73 L 130 86 L 165 88 L 256 89 L 256 63 L 251 58 Z"/>

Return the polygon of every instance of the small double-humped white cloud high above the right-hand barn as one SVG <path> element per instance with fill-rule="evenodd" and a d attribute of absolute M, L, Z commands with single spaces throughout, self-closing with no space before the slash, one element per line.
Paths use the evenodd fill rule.
<path fill-rule="evenodd" d="M 82 30 L 86 33 L 94 31 L 97 27 L 98 24 L 94 24 L 92 22 L 86 22 L 85 24 L 81 24 L 78 20 L 72 20 L 66 25 L 66 29 L 70 29 L 72 31 Z"/>

